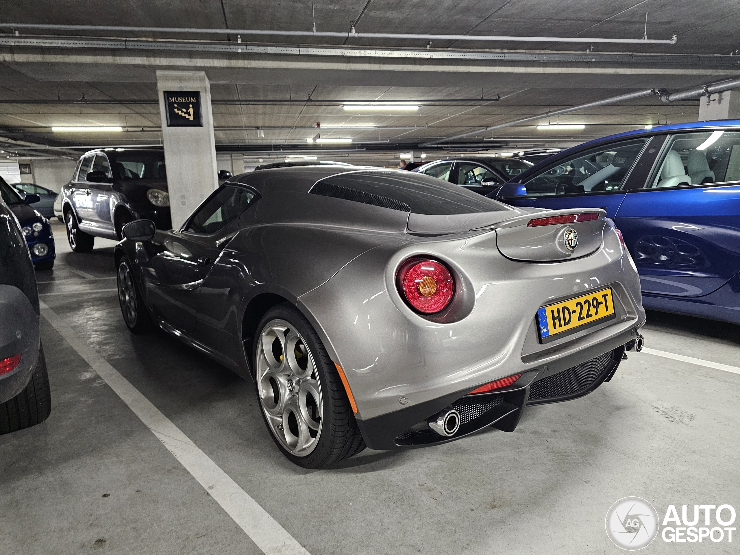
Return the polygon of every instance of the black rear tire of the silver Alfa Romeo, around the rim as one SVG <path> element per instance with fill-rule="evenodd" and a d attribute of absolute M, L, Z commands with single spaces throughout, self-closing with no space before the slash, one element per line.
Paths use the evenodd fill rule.
<path fill-rule="evenodd" d="M 263 408 L 263 401 L 260 398 L 260 384 L 257 379 L 260 337 L 262 337 L 263 330 L 273 320 L 285 321 L 305 340 L 304 343 L 312 354 L 315 373 L 321 388 L 323 414 L 320 415 L 320 434 L 318 435 L 315 447 L 305 457 L 292 454 L 280 443 L 280 440 L 275 435 L 275 430 L 273 430 L 272 425 L 269 423 L 266 416 L 266 409 Z M 363 441 L 362 434 L 360 434 L 360 428 L 357 427 L 357 421 L 354 419 L 354 413 L 349 404 L 342 380 L 332 359 L 329 358 L 329 354 L 327 354 L 323 343 L 321 343 L 318 334 L 311 323 L 309 323 L 309 320 L 306 320 L 306 317 L 291 304 L 283 303 L 273 307 L 265 314 L 257 330 L 254 342 L 255 349 L 252 353 L 252 368 L 255 371 L 255 392 L 266 428 L 275 445 L 277 445 L 277 448 L 283 452 L 283 455 L 291 462 L 303 468 L 326 468 L 362 451 L 365 448 L 365 442 Z M 280 360 L 283 360 L 282 355 Z"/>

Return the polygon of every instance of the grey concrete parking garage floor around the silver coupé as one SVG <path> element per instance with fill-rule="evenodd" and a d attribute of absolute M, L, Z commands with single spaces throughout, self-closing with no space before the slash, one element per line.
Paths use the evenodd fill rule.
<path fill-rule="evenodd" d="M 44 303 L 313 555 L 619 553 L 604 519 L 622 497 L 661 517 L 670 504 L 740 510 L 740 375 L 645 352 L 593 394 L 528 408 L 512 434 L 298 468 L 272 443 L 251 383 L 164 333 L 129 334 L 112 241 L 81 255 L 54 231 L 55 269 L 37 274 Z M 44 319 L 41 334 L 52 413 L 0 437 L 0 553 L 259 554 Z M 650 313 L 644 334 L 653 349 L 738 366 L 738 326 Z M 645 553 L 733 545 L 657 538 Z"/>

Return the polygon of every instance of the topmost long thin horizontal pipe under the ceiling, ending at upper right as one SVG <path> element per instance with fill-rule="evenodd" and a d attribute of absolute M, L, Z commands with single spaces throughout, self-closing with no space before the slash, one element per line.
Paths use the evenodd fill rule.
<path fill-rule="evenodd" d="M 417 35 L 410 33 L 357 33 L 354 27 L 346 33 L 335 31 L 280 31 L 260 29 L 202 29 L 197 27 L 126 27 L 119 25 L 59 25 L 41 23 L 0 23 L 1 27 L 13 29 L 47 29 L 61 31 L 124 31 L 144 33 L 183 33 L 207 35 L 274 35 L 274 36 L 324 36 L 337 38 L 403 38 L 424 41 L 519 41 L 519 42 L 588 42 L 625 44 L 676 44 L 678 36 L 672 38 L 582 38 L 546 36 L 477 36 L 477 35 Z"/>

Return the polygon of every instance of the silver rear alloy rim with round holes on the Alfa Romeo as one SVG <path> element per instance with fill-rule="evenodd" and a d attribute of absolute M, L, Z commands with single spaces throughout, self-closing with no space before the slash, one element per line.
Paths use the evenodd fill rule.
<path fill-rule="evenodd" d="M 319 441 L 323 400 L 319 374 L 306 341 L 286 320 L 262 329 L 255 357 L 260 404 L 272 434 L 296 457 Z"/>

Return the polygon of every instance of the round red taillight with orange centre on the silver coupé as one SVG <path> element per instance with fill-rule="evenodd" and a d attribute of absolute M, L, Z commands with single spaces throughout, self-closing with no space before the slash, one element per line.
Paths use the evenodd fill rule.
<path fill-rule="evenodd" d="M 449 270 L 434 260 L 413 258 L 398 272 L 398 285 L 408 303 L 419 312 L 440 312 L 452 300 L 454 280 Z"/>

